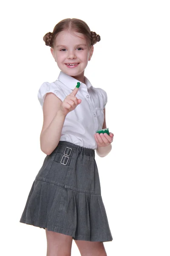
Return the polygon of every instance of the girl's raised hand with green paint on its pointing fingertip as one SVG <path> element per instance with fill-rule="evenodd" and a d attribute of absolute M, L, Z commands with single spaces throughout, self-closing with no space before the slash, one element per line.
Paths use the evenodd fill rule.
<path fill-rule="evenodd" d="M 77 107 L 77 105 L 82 102 L 81 99 L 77 99 L 76 97 L 78 90 L 79 88 L 75 87 L 72 93 L 66 96 L 66 98 L 62 102 L 60 106 L 60 111 L 64 116 L 66 116 L 69 112 L 73 111 Z"/>

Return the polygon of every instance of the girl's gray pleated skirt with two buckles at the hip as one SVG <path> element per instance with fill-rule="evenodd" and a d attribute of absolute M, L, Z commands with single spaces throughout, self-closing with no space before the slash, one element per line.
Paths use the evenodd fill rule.
<path fill-rule="evenodd" d="M 95 151 L 59 141 L 35 177 L 20 222 L 75 240 L 112 241 Z"/>

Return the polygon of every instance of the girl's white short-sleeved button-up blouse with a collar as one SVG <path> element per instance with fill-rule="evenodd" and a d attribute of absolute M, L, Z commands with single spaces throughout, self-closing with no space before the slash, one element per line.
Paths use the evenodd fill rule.
<path fill-rule="evenodd" d="M 66 140 L 84 148 L 96 149 L 97 143 L 94 134 L 102 129 L 104 121 L 105 105 L 107 103 L 107 93 L 101 88 L 94 88 L 90 81 L 85 78 L 85 84 L 68 76 L 62 71 L 56 81 L 44 82 L 38 91 L 38 100 L 43 110 L 43 102 L 46 93 L 54 93 L 59 99 L 64 101 L 80 82 L 77 99 L 82 102 L 65 117 L 60 140 Z M 57 127 L 56 127 L 57 130 Z"/>

